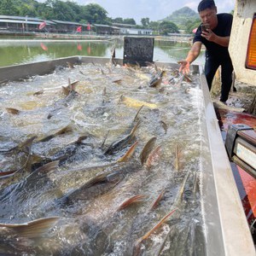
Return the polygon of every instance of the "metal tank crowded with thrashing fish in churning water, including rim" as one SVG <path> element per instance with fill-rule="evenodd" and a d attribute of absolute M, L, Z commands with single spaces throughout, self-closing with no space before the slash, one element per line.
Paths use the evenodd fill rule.
<path fill-rule="evenodd" d="M 252 252 L 206 78 L 177 69 L 0 68 L 0 254 Z"/>

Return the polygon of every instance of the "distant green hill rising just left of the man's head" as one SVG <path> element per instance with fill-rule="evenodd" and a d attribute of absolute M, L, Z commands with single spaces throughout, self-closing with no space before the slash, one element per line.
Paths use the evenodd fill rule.
<path fill-rule="evenodd" d="M 174 11 L 172 15 L 167 16 L 163 20 L 172 21 L 179 29 L 185 29 L 188 22 L 195 23 L 195 20 L 199 20 L 199 15 L 193 9 L 183 7 L 182 9 Z"/>

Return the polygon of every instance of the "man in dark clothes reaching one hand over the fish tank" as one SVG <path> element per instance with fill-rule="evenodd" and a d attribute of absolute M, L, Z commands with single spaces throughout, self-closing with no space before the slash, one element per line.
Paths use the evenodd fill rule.
<path fill-rule="evenodd" d="M 181 64 L 180 72 L 189 73 L 190 63 L 195 61 L 201 51 L 201 44 L 206 46 L 205 74 L 209 90 L 212 79 L 219 66 L 221 66 L 221 96 L 220 101 L 226 102 L 229 98 L 232 84 L 233 66 L 228 51 L 233 16 L 218 14 L 213 0 L 202 0 L 198 5 L 201 26 L 195 32 L 192 48 Z"/>

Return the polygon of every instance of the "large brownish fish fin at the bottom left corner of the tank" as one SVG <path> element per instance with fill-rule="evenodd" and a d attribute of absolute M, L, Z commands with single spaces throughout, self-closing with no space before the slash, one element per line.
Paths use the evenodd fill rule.
<path fill-rule="evenodd" d="M 0 227 L 15 230 L 18 236 L 39 238 L 55 224 L 59 217 L 38 218 L 23 224 L 0 224 Z"/>

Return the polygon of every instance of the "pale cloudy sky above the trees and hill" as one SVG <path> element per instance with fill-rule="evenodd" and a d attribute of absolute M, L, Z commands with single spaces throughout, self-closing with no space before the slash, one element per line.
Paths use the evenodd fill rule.
<path fill-rule="evenodd" d="M 72 0 L 79 5 L 98 3 L 108 11 L 111 18 L 133 18 L 140 24 L 142 18 L 150 21 L 161 20 L 177 9 L 188 6 L 197 12 L 200 0 Z M 38 0 L 38 2 L 45 2 Z M 235 8 L 235 0 L 215 0 L 218 13 L 230 12 Z"/>

